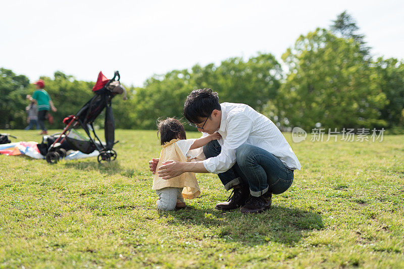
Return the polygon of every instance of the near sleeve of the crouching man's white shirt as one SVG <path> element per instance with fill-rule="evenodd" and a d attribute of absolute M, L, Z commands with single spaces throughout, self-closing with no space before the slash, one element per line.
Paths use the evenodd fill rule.
<path fill-rule="evenodd" d="M 223 173 L 236 162 L 236 150 L 244 144 L 250 134 L 252 120 L 245 114 L 237 113 L 227 119 L 227 136 L 222 150 L 216 157 L 206 159 L 204 166 L 211 173 Z"/>

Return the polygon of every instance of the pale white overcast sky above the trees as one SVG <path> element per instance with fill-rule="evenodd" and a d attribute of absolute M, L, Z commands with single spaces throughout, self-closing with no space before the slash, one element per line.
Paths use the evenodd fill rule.
<path fill-rule="evenodd" d="M 125 85 L 154 74 L 272 53 L 347 11 L 376 56 L 404 59 L 404 1 L 5 1 L 0 68 L 30 81 L 62 71 Z"/>

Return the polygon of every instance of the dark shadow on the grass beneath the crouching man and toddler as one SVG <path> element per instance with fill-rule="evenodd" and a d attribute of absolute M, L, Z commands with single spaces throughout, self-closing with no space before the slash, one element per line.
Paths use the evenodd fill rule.
<path fill-rule="evenodd" d="M 217 230 L 217 236 L 226 241 L 242 241 L 247 245 L 265 244 L 268 241 L 293 245 L 313 229 L 323 229 L 320 214 L 297 208 L 272 207 L 262 214 L 241 214 L 238 210 L 220 212 L 188 207 L 168 212 L 173 225 L 204 226 Z"/>

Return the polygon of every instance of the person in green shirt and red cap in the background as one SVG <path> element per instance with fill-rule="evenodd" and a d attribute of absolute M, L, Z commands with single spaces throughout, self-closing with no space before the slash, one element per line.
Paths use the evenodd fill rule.
<path fill-rule="evenodd" d="M 52 102 L 49 94 L 43 89 L 45 87 L 45 83 L 43 82 L 43 80 L 34 82 L 34 85 L 36 90 L 32 96 L 28 94 L 27 99 L 31 102 L 35 102 L 35 104 L 37 104 L 38 106 L 38 122 L 39 126 L 42 129 L 39 134 L 47 134 L 44 122 L 46 114 L 49 111 L 49 108 L 51 108 L 54 112 L 58 110 L 54 106 L 54 103 Z"/>

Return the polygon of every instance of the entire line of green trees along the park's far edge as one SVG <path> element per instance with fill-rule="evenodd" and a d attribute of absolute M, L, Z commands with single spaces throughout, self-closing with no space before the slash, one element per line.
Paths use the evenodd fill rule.
<path fill-rule="evenodd" d="M 193 89 L 212 88 L 221 102 L 245 103 L 271 118 L 282 130 L 294 126 L 324 128 L 404 127 L 404 62 L 371 56 L 371 48 L 346 12 L 329 29 L 297 38 L 282 55 L 287 72 L 271 53 L 220 64 L 173 70 L 148 78 L 143 87 L 127 87 L 128 100 L 113 100 L 117 128 L 155 129 L 159 117 L 182 117 Z M 76 113 L 92 96 L 94 82 L 62 72 L 42 77 L 58 112 L 52 128 Z M 0 128 L 26 126 L 25 96 L 33 85 L 24 75 L 0 69 Z M 103 116 L 96 124 L 103 125 Z M 187 129 L 189 129 L 187 127 Z"/>

